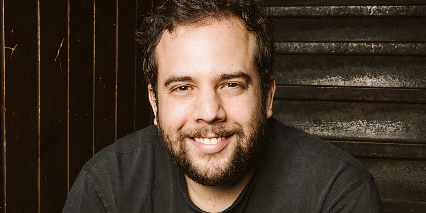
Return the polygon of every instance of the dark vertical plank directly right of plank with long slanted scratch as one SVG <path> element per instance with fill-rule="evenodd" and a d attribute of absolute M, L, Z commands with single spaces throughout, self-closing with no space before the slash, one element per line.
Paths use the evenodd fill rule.
<path fill-rule="evenodd" d="M 69 5 L 69 187 L 93 155 L 93 0 Z"/>

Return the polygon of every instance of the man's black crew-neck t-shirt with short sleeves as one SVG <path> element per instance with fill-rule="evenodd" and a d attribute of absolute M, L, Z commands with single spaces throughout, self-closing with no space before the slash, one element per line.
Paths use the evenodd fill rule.
<path fill-rule="evenodd" d="M 224 212 L 383 212 L 374 178 L 326 141 L 268 119 L 264 154 Z M 186 180 L 147 127 L 90 159 L 63 212 L 204 212 Z"/>

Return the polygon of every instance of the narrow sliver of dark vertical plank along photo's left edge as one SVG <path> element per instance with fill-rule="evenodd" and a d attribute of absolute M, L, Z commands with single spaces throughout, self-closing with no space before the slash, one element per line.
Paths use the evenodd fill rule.
<path fill-rule="evenodd" d="M 3 0 L 0 0 L 0 63 L 1 63 L 1 76 L 0 76 L 0 87 L 1 87 L 1 95 L 0 95 L 0 112 L 1 112 L 1 141 L 0 141 L 0 153 L 1 153 L 1 193 L 0 193 L 0 212 L 6 212 L 6 107 L 5 107 L 5 95 L 6 95 L 6 89 L 5 89 L 5 72 L 4 72 L 4 7 L 3 7 Z"/>

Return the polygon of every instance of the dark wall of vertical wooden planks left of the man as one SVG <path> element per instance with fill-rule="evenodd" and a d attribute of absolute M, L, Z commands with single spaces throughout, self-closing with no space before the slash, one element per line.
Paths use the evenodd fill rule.
<path fill-rule="evenodd" d="M 1 209 L 60 212 L 83 164 L 151 124 L 147 0 L 1 0 Z"/>

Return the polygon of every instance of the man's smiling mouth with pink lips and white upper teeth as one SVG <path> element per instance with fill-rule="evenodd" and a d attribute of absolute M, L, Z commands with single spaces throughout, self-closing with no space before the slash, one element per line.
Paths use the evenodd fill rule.
<path fill-rule="evenodd" d="M 233 135 L 233 134 L 232 134 Z M 192 140 L 193 146 L 200 153 L 217 153 L 223 150 L 228 144 L 232 135 L 218 136 L 213 137 L 190 137 Z"/>

